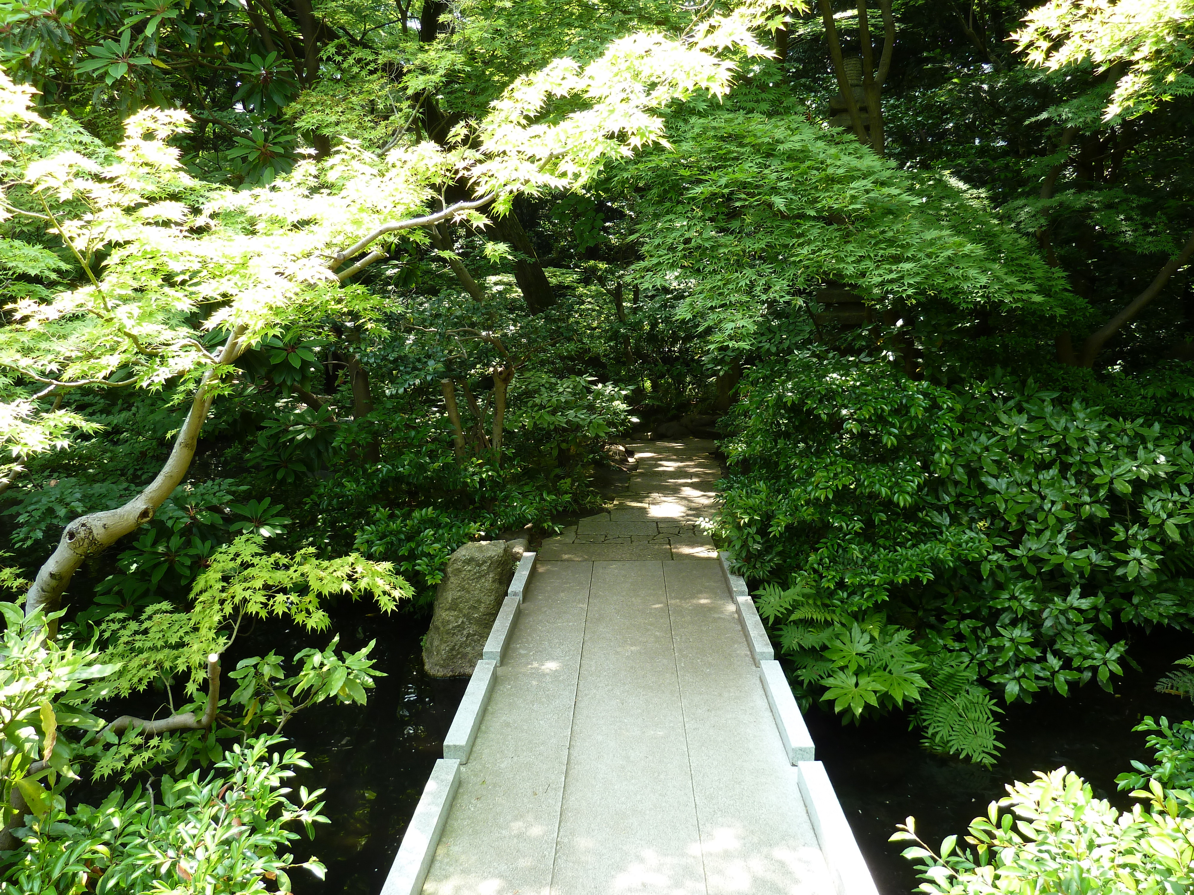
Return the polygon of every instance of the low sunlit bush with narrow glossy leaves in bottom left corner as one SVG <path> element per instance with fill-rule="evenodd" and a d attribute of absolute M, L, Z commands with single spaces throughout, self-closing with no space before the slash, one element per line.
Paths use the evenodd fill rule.
<path fill-rule="evenodd" d="M 310 765 L 295 749 L 271 753 L 281 742 L 236 743 L 202 779 L 199 771 L 177 780 L 164 774 L 156 792 L 116 789 L 98 808 L 67 811 L 54 798 L 17 831 L 25 847 L 2 859 L 0 893 L 245 895 L 290 891 L 288 874 L 297 868 L 322 878 L 318 859 L 295 863 L 285 851 L 298 838 L 287 827 L 302 823 L 312 835 L 327 819 L 316 802 L 322 790 L 300 788 L 297 804 L 287 798 L 291 769 Z"/>

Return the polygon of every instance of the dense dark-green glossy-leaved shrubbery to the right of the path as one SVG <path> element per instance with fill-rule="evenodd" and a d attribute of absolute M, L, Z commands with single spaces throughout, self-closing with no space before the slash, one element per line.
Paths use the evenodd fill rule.
<path fill-rule="evenodd" d="M 1030 383 L 953 391 L 818 351 L 759 366 L 743 391 L 716 530 L 777 585 L 759 611 L 806 685 L 837 673 L 826 626 L 876 611 L 916 632 L 916 661 L 958 655 L 1009 702 L 1109 689 L 1116 624 L 1190 625 L 1194 452 L 1158 425 L 1060 407 Z M 875 699 L 847 702 L 890 708 L 879 695 L 899 703 L 904 686 L 869 675 Z"/>

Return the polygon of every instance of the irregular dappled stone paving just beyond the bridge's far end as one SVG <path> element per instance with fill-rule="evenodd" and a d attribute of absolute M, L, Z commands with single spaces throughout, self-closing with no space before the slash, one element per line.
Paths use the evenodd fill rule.
<path fill-rule="evenodd" d="M 715 560 L 713 539 L 696 521 L 716 510 L 721 477 L 713 442 L 628 444 L 639 461 L 626 493 L 543 541 L 540 560 Z"/>

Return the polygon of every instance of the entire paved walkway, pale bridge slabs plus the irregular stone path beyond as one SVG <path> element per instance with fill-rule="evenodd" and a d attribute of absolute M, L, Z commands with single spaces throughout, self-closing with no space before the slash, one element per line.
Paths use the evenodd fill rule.
<path fill-rule="evenodd" d="M 833 891 L 720 566 L 688 548 L 707 453 L 642 445 L 657 481 L 540 553 L 424 895 Z"/>

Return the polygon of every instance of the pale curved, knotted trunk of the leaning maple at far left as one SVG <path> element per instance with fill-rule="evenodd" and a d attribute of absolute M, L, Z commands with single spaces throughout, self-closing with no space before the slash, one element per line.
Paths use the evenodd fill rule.
<path fill-rule="evenodd" d="M 247 347 L 241 342 L 244 332 L 244 327 L 236 327 L 228 337 L 220 352 L 219 363 L 221 365 L 233 363 L 244 353 Z M 84 560 L 106 550 L 130 531 L 153 519 L 158 507 L 181 483 L 195 457 L 195 449 L 199 443 L 199 430 L 203 428 L 208 412 L 211 409 L 211 402 L 215 400 L 213 378 L 211 370 L 203 375 L 199 388 L 191 401 L 186 420 L 174 437 L 174 446 L 170 451 L 170 457 L 156 477 L 124 506 L 80 516 L 67 525 L 57 549 L 38 569 L 33 586 L 25 595 L 26 616 L 38 611 L 54 612 L 57 610 L 62 593 L 67 590 L 70 578 L 84 563 Z M 54 636 L 56 629 L 56 624 L 49 625 L 50 636 Z"/>

